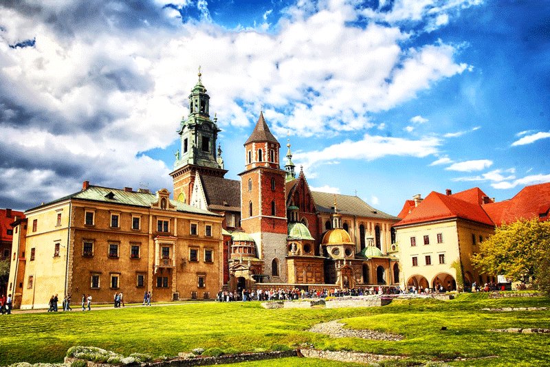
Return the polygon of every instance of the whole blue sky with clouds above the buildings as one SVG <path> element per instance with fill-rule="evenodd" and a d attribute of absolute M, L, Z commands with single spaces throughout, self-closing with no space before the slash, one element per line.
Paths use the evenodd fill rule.
<path fill-rule="evenodd" d="M 199 65 L 230 179 L 263 111 L 312 190 L 393 215 L 550 181 L 550 1 L 3 0 L 0 207 L 172 190 Z"/>

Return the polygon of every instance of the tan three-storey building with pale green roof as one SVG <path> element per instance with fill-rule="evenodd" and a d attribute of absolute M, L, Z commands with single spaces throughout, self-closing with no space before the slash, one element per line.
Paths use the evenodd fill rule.
<path fill-rule="evenodd" d="M 92 186 L 25 212 L 13 223 L 14 307 L 45 308 L 83 293 L 109 303 L 214 298 L 222 283 L 219 214 L 170 200 L 162 189 Z M 61 301 L 60 301 L 61 302 Z"/>

